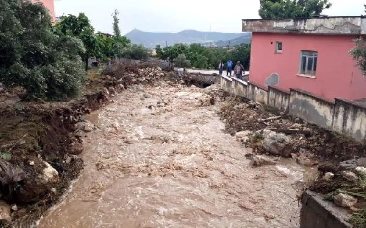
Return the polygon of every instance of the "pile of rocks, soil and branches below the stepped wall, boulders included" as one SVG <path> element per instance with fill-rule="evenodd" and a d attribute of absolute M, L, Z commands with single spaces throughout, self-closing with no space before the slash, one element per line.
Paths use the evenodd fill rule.
<path fill-rule="evenodd" d="M 225 131 L 255 153 L 292 157 L 302 165 L 361 157 L 366 148 L 259 102 L 224 97 L 219 112 Z M 249 132 L 251 132 L 249 134 Z"/>

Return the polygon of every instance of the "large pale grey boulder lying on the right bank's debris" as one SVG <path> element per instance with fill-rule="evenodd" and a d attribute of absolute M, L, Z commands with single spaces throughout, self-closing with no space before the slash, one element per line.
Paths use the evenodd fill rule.
<path fill-rule="evenodd" d="M 292 144 L 290 138 L 283 133 L 264 129 L 258 131 L 257 134 L 260 134 L 263 137 L 263 147 L 270 154 L 290 157 L 291 153 L 294 151 L 294 144 Z"/>

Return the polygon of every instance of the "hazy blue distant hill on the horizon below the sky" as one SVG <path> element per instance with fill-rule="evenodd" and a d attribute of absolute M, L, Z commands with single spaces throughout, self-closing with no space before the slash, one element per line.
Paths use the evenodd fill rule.
<path fill-rule="evenodd" d="M 225 32 L 200 32 L 195 30 L 183 30 L 181 32 L 144 32 L 137 29 L 128 32 L 125 36 L 134 44 L 142 44 L 148 48 L 174 45 L 176 43 L 215 43 L 220 40 L 231 40 L 243 36 L 250 38 L 250 33 L 225 33 Z"/>

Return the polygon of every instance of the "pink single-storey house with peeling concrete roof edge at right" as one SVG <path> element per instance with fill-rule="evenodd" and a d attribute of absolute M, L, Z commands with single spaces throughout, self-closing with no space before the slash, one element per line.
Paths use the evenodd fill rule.
<path fill-rule="evenodd" d="M 366 77 L 348 51 L 366 34 L 362 16 L 243 20 L 252 32 L 249 81 L 332 100 L 366 98 Z"/>

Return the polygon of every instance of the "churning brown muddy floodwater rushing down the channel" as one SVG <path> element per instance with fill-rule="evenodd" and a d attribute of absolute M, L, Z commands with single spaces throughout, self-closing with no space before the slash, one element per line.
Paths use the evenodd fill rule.
<path fill-rule="evenodd" d="M 90 115 L 86 167 L 38 227 L 298 227 L 296 183 L 312 170 L 251 168 L 220 103 L 199 105 L 214 87 L 126 90 Z"/>

